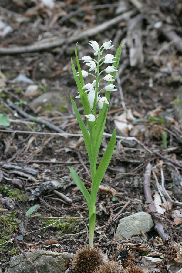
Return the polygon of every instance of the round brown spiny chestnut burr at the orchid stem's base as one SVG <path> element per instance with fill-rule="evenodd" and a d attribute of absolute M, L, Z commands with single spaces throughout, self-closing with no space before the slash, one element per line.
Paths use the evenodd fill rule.
<path fill-rule="evenodd" d="M 104 264 L 104 254 L 97 247 L 80 247 L 73 256 L 71 273 L 95 273 Z"/>

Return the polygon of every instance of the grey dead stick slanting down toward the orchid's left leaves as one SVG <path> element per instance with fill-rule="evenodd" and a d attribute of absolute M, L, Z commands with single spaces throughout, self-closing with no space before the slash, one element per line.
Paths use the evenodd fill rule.
<path fill-rule="evenodd" d="M 65 133 L 62 129 L 58 128 L 57 126 L 50 123 L 49 121 L 41 120 L 41 119 L 39 119 L 39 118 L 37 118 L 35 116 L 27 114 L 25 111 L 21 110 L 17 105 L 12 103 L 12 101 L 10 101 L 10 100 L 8 100 L 8 105 L 10 107 L 12 107 L 13 109 L 15 109 L 20 115 L 22 115 L 23 117 L 25 117 L 29 121 L 35 121 L 36 123 L 44 124 L 49 129 L 54 130 L 54 131 L 56 131 L 58 133 Z"/>

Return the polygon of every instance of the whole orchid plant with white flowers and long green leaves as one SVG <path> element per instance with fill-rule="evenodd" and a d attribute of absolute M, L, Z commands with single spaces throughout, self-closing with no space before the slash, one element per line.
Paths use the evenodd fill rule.
<path fill-rule="evenodd" d="M 89 246 L 93 246 L 94 240 L 94 230 L 95 230 L 95 222 L 96 222 L 96 196 L 99 190 L 100 183 L 103 179 L 103 176 L 106 172 L 106 169 L 110 163 L 111 157 L 113 155 L 113 150 L 116 144 L 116 129 L 114 129 L 111 139 L 108 143 L 108 146 L 103 154 L 103 157 L 97 167 L 97 158 L 99 153 L 100 144 L 102 141 L 104 128 L 106 124 L 107 110 L 110 101 L 110 94 L 112 91 L 116 91 L 116 85 L 113 84 L 114 77 L 116 75 L 117 67 L 120 61 L 121 55 L 121 45 L 120 44 L 116 55 L 107 54 L 102 57 L 102 53 L 104 50 L 108 50 L 112 48 L 114 45 L 111 45 L 112 41 L 108 41 L 103 43 L 101 47 L 96 41 L 89 41 L 89 45 L 95 50 L 94 55 L 97 56 L 97 60 L 91 58 L 90 56 L 84 56 L 80 60 L 83 61 L 87 66 L 89 66 L 89 72 L 95 72 L 95 75 L 85 70 L 81 70 L 79 59 L 77 55 L 77 49 L 75 47 L 75 55 L 76 55 L 76 63 L 78 72 L 72 62 L 72 71 L 76 81 L 76 85 L 78 87 L 78 96 L 76 98 L 80 98 L 83 109 L 85 112 L 85 116 L 87 118 L 88 129 L 84 124 L 80 113 L 77 109 L 75 101 L 71 97 L 72 106 L 78 120 L 80 129 L 83 133 L 83 139 L 85 142 L 86 150 L 89 157 L 90 170 L 91 170 L 91 180 L 92 187 L 91 192 L 89 193 L 83 182 L 79 178 L 76 171 L 69 167 L 69 170 L 72 174 L 72 178 L 75 181 L 76 185 L 79 187 L 79 190 L 82 192 L 84 197 L 86 198 L 86 202 L 89 210 Z M 76 44 L 77 45 L 77 44 Z M 110 64 L 106 69 L 100 71 L 100 67 L 103 64 Z M 103 78 L 101 77 L 102 73 L 107 73 Z M 92 76 L 94 78 L 93 83 L 84 83 L 84 77 Z M 100 79 L 99 79 L 100 78 Z M 99 90 L 99 83 L 101 81 L 106 81 L 107 85 Z M 101 92 L 105 90 L 105 95 L 100 96 Z M 97 109 L 99 108 L 99 113 L 97 114 Z"/>

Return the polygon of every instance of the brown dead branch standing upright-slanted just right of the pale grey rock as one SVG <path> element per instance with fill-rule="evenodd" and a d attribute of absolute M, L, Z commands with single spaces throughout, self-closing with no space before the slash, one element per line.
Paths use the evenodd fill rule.
<path fill-rule="evenodd" d="M 152 171 L 152 166 L 150 163 L 147 164 L 146 171 L 144 174 L 144 181 L 143 181 L 143 190 L 145 194 L 145 202 L 149 208 L 150 211 L 154 212 L 152 214 L 152 219 L 155 224 L 154 229 L 158 232 L 160 237 L 162 238 L 164 243 L 168 243 L 170 241 L 170 236 L 164 231 L 164 226 L 162 223 L 162 218 L 160 218 L 157 215 L 155 205 L 153 203 L 152 199 L 152 193 L 151 193 L 151 188 L 150 188 L 150 178 L 151 178 L 151 171 Z"/>

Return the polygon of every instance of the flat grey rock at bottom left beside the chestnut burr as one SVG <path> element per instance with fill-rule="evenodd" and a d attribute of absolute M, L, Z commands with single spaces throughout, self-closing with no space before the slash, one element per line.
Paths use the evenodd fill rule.
<path fill-rule="evenodd" d="M 67 252 L 56 253 L 45 250 L 26 252 L 26 255 L 36 265 L 39 273 L 62 273 L 66 261 L 70 258 Z M 19 254 L 10 258 L 8 273 L 35 273 L 35 271 L 23 254 Z"/>

